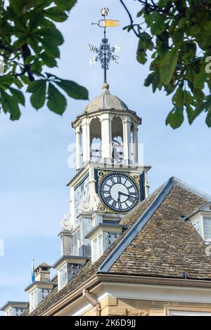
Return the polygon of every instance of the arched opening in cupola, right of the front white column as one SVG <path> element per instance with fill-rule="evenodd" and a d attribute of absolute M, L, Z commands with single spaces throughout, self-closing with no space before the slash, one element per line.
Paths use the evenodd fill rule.
<path fill-rule="evenodd" d="M 120 117 L 113 117 L 111 123 L 112 133 L 112 158 L 114 164 L 120 164 L 123 161 L 123 126 Z"/>

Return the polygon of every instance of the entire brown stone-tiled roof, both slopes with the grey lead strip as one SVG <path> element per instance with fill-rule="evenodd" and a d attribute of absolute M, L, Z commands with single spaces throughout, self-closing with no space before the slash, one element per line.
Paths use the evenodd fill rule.
<path fill-rule="evenodd" d="M 30 315 L 40 315 L 97 272 L 105 272 L 106 267 L 106 272 L 120 275 L 181 278 L 181 273 L 186 272 L 188 278 L 211 279 L 206 245 L 191 223 L 181 218 L 205 202 L 205 194 L 170 178 L 122 219 L 121 224 L 132 227 L 116 239 L 101 258 L 95 263 L 88 261 L 62 290 L 53 289 Z M 146 216 L 148 220 L 144 225 Z M 129 242 L 128 246 L 122 247 L 124 241 Z M 23 313 L 28 314 L 29 310 Z"/>

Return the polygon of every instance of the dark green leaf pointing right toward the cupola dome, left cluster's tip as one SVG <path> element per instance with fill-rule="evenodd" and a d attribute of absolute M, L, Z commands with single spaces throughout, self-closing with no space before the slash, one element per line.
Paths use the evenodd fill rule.
<path fill-rule="evenodd" d="M 88 100 L 88 91 L 83 86 L 79 86 L 75 81 L 63 80 L 56 81 L 56 84 L 65 91 L 70 98 L 77 100 Z"/>

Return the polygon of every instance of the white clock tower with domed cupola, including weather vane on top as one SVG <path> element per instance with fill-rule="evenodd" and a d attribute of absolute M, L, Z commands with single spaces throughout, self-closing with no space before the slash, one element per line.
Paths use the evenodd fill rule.
<path fill-rule="evenodd" d="M 91 256 L 93 260 L 124 230 L 122 217 L 148 197 L 150 169 L 139 161 L 141 118 L 110 93 L 106 74 L 110 60 L 117 60 L 114 54 L 120 47 L 110 46 L 106 27 L 117 26 L 119 21 L 106 20 L 108 8 L 101 14 L 103 20 L 96 23 L 104 31 L 101 45 L 89 47 L 97 54 L 91 61 L 101 62 L 104 83 L 101 94 L 72 122 L 76 173 L 68 183 L 70 211 L 60 233 L 63 256 Z"/>

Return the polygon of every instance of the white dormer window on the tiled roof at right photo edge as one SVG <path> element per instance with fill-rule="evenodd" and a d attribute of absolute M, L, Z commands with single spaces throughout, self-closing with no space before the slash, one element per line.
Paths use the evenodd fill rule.
<path fill-rule="evenodd" d="M 205 242 L 211 242 L 211 202 L 205 203 L 185 218 Z"/>

